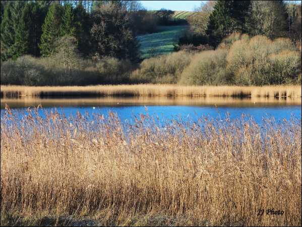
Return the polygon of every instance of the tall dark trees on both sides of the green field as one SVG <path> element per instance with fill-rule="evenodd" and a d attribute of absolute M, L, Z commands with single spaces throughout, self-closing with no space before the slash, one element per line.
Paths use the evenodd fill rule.
<path fill-rule="evenodd" d="M 207 1 L 188 18 L 179 44 L 217 46 L 233 32 L 301 40 L 297 1 Z M 167 25 L 172 11 L 150 13 L 139 1 L 1 1 L 1 60 L 49 56 L 63 36 L 83 55 L 138 59 L 138 34 Z"/>

